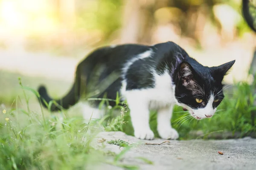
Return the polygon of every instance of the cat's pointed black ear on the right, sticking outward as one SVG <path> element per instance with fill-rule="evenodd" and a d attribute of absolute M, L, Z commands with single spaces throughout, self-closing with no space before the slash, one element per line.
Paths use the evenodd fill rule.
<path fill-rule="evenodd" d="M 236 60 L 233 60 L 230 62 L 226 62 L 225 64 L 219 65 L 217 67 L 212 67 L 212 77 L 222 82 L 224 76 L 229 73 L 230 68 L 233 66 L 235 62 Z"/>

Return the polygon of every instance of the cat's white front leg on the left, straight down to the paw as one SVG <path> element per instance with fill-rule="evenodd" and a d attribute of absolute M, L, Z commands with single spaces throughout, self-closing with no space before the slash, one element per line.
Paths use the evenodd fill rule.
<path fill-rule="evenodd" d="M 139 139 L 154 139 L 154 133 L 149 127 L 148 102 L 145 99 L 138 99 L 138 96 L 134 96 L 128 97 L 127 103 L 134 127 L 134 136 Z"/>

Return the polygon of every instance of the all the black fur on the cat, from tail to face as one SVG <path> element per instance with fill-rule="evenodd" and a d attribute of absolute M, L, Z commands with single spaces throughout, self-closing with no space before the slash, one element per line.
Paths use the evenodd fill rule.
<path fill-rule="evenodd" d="M 138 55 L 146 51 L 151 51 L 151 57 L 136 59 Z M 129 61 L 135 59 L 125 74 L 124 68 Z M 118 45 L 114 48 L 102 47 L 88 55 L 86 59 L 79 63 L 76 70 L 76 78 L 70 92 L 62 99 L 56 100 L 58 105 L 67 109 L 79 101 L 81 97 L 97 97 L 116 99 L 116 92 L 120 92 L 122 80 L 126 80 L 126 90 L 154 88 L 155 81 L 153 72 L 161 75 L 168 71 L 176 86 L 175 95 L 178 102 L 190 105 L 192 108 L 201 108 L 207 103 L 195 103 L 195 92 L 197 88 L 189 89 L 183 85 L 183 82 L 194 81 L 204 88 L 205 96 L 208 97 L 211 91 L 217 94 L 222 89 L 221 81 L 227 71 L 235 61 L 228 62 L 218 67 L 204 67 L 189 55 L 180 46 L 174 42 L 165 42 L 154 46 L 126 44 Z M 182 77 L 182 66 L 188 66 L 192 71 L 189 77 Z M 47 94 L 46 89 L 39 88 L 41 97 L 49 103 L 52 98 Z M 220 93 L 221 94 L 221 93 Z M 105 96 L 106 95 L 106 96 Z M 224 95 L 218 96 L 223 99 Z M 98 106 L 100 101 L 91 103 Z M 43 105 L 46 107 L 44 102 Z M 215 103 L 216 107 L 219 103 Z M 110 102 L 115 105 L 115 102 Z M 52 105 L 51 111 L 58 111 L 60 107 Z"/>

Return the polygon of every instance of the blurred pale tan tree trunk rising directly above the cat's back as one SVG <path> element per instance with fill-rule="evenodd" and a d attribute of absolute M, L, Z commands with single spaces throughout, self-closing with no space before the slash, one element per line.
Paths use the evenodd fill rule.
<path fill-rule="evenodd" d="M 121 43 L 151 44 L 155 0 L 126 0 Z"/>

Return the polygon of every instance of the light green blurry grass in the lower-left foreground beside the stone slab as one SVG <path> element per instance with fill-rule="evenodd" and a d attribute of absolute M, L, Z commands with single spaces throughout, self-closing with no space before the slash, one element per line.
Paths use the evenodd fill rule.
<path fill-rule="evenodd" d="M 23 96 L 8 107 L 0 105 L 0 170 L 88 170 L 99 163 L 135 168 L 120 163 L 122 155 L 103 151 L 104 144 L 92 147 L 101 131 L 97 122 L 86 124 L 81 116 L 68 116 L 72 114 L 68 111 L 56 115 L 42 108 L 33 111 L 27 94 L 38 96 L 37 92 L 21 82 L 20 86 Z"/>

